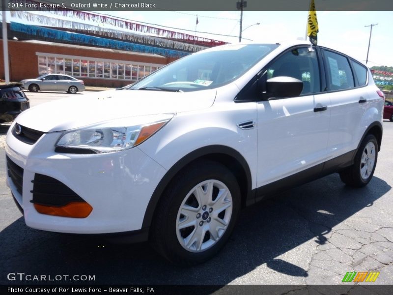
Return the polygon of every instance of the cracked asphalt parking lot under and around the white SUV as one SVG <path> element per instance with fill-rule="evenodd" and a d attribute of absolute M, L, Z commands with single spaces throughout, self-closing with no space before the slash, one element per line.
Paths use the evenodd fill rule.
<path fill-rule="evenodd" d="M 63 97 L 77 105 L 86 94 L 28 92 L 28 97 L 31 106 Z M 0 125 L 1 284 L 31 283 L 8 280 L 10 272 L 94 275 L 88 283 L 95 284 L 335 285 L 352 284 L 341 282 L 348 271 L 379 271 L 378 284 L 393 282 L 392 122 L 383 123 L 382 148 L 368 186 L 348 188 L 334 174 L 248 207 L 223 251 L 190 268 L 170 265 L 147 243 L 28 228 L 5 184 L 8 126 Z"/>

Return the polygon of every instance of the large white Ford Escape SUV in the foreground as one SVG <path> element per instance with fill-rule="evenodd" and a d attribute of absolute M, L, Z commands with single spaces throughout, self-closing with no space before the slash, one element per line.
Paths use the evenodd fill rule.
<path fill-rule="evenodd" d="M 334 172 L 366 185 L 383 104 L 367 67 L 337 51 L 215 47 L 23 112 L 7 134 L 7 183 L 29 227 L 124 233 L 200 263 L 271 192 Z"/>

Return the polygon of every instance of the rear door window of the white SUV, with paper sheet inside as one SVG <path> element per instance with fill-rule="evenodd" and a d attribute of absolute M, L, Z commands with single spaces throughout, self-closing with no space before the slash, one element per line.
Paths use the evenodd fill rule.
<path fill-rule="evenodd" d="M 354 80 L 348 59 L 337 53 L 325 50 L 329 90 L 354 88 Z"/>

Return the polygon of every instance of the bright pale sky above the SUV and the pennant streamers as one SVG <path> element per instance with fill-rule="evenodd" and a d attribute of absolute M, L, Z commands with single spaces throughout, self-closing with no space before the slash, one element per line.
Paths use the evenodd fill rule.
<path fill-rule="evenodd" d="M 239 11 L 100 11 L 135 22 L 145 22 L 229 43 L 239 42 Z M 198 17 L 198 25 L 196 20 Z M 277 43 L 304 38 L 308 11 L 243 12 L 243 41 Z M 370 24 L 372 29 L 368 66 L 393 66 L 393 11 L 318 11 L 318 45 L 326 46 L 365 62 Z M 255 25 L 259 23 L 259 25 Z M 197 31 L 197 32 L 195 32 Z M 207 34 L 201 32 L 233 35 Z M 249 40 L 248 40 L 249 39 Z"/>

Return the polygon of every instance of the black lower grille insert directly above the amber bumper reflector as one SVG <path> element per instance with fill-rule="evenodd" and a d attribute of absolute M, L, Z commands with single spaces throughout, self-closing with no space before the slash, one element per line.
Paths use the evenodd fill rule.
<path fill-rule="evenodd" d="M 84 202 L 72 189 L 55 178 L 37 173 L 31 182 L 34 183 L 31 203 L 61 207 L 71 202 Z"/>

